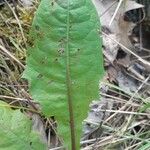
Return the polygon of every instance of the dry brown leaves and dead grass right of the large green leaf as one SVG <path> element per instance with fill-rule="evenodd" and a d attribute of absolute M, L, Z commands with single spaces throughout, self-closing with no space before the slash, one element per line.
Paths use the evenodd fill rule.
<path fill-rule="evenodd" d="M 144 2 L 122 1 L 117 10 L 117 1 L 93 0 L 102 24 L 106 76 L 100 101 L 91 104 L 85 120 L 82 140 L 89 143 L 83 150 L 137 150 L 144 140 L 150 142 L 150 3 Z"/>

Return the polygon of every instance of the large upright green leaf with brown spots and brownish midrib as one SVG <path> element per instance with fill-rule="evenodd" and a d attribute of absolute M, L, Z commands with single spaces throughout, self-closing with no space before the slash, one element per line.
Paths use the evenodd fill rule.
<path fill-rule="evenodd" d="M 72 150 L 79 149 L 82 121 L 89 103 L 98 98 L 104 73 L 99 28 L 90 0 L 42 0 L 31 30 L 34 45 L 24 77 Z"/>

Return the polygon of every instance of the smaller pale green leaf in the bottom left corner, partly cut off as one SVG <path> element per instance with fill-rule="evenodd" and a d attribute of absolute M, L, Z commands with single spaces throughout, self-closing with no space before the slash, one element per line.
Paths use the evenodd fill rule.
<path fill-rule="evenodd" d="M 32 122 L 20 110 L 0 101 L 0 150 L 45 150 Z"/>

